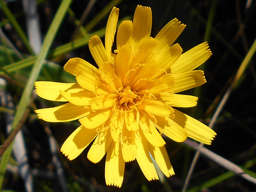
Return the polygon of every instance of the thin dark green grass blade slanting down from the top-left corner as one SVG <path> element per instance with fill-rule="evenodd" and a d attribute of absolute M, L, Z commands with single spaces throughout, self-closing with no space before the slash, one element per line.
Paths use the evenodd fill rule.
<path fill-rule="evenodd" d="M 20 36 L 22 42 L 24 43 L 24 45 L 26 46 L 26 48 L 28 49 L 30 54 L 34 55 L 35 54 L 34 50 L 30 46 L 30 43 L 28 42 L 28 38 L 26 37 L 26 34 L 24 33 L 24 31 L 18 24 L 16 18 L 12 14 L 12 12 L 9 10 L 9 8 L 6 6 L 6 4 L 4 3 L 3 0 L 0 0 L 0 5 L 1 5 L 1 9 L 3 10 L 4 14 L 9 19 L 10 23 L 12 24 L 13 28 L 16 30 L 17 34 Z"/>

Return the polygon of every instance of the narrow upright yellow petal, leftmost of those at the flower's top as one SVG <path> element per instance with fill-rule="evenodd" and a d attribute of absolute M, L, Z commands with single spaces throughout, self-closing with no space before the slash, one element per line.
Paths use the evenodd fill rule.
<path fill-rule="evenodd" d="M 116 7 L 113 7 L 109 17 L 108 17 L 108 22 L 106 26 L 106 35 L 105 35 L 105 48 L 106 52 L 108 54 L 112 54 L 111 47 L 114 42 L 114 36 L 116 33 L 116 24 L 118 20 L 118 13 L 119 9 Z"/>

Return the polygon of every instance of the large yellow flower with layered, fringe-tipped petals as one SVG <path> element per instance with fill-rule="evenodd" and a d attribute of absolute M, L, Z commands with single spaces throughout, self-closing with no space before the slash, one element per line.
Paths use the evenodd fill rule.
<path fill-rule="evenodd" d="M 208 44 L 182 54 L 180 45 L 172 45 L 185 28 L 177 19 L 150 37 L 151 9 L 137 6 L 133 22 L 120 24 L 113 45 L 118 12 L 114 7 L 110 13 L 105 47 L 98 36 L 89 41 L 99 68 L 72 58 L 64 69 L 77 83 L 37 81 L 35 86 L 44 99 L 68 101 L 36 110 L 40 119 L 81 123 L 62 145 L 62 153 L 72 160 L 95 139 L 88 159 L 96 163 L 106 153 L 106 184 L 120 187 L 125 162 L 135 159 L 148 180 L 158 179 L 150 154 L 167 177 L 174 174 L 162 133 L 177 142 L 190 137 L 205 144 L 216 133 L 173 108 L 197 104 L 197 97 L 177 93 L 206 82 L 204 72 L 194 69 L 212 54 Z"/>

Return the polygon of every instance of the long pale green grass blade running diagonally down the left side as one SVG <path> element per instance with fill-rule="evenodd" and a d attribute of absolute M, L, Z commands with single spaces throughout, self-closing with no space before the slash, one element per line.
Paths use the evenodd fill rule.
<path fill-rule="evenodd" d="M 1 0 L 2 1 L 2 0 Z M 52 24 L 46 34 L 46 38 L 42 44 L 42 48 L 40 50 L 40 53 L 38 54 L 38 57 L 36 58 L 36 61 L 34 63 L 34 66 L 32 68 L 32 71 L 30 73 L 30 77 L 28 78 L 27 84 L 24 88 L 24 91 L 22 93 L 22 97 L 20 99 L 19 107 L 17 109 L 17 112 L 15 114 L 14 122 L 12 124 L 12 129 L 15 129 L 20 120 L 22 119 L 23 113 L 28 107 L 29 100 L 32 90 L 34 88 L 34 81 L 36 81 L 40 70 L 42 68 L 43 62 L 46 59 L 46 56 L 50 50 L 50 46 L 52 45 L 52 42 L 54 40 L 54 37 L 56 36 L 56 33 L 60 27 L 60 24 L 66 14 L 66 11 L 70 5 L 72 0 L 63 0 L 60 4 L 60 7 L 58 8 L 58 11 L 54 17 L 54 20 L 52 21 Z M 2 6 L 2 4 L 1 4 Z M 13 142 L 12 142 L 13 143 Z M 8 160 L 10 158 L 12 151 L 12 144 L 6 149 L 4 152 L 1 162 L 0 162 L 0 189 L 2 188 L 2 182 L 4 180 L 4 174 L 6 171 L 6 166 L 8 163 Z"/>

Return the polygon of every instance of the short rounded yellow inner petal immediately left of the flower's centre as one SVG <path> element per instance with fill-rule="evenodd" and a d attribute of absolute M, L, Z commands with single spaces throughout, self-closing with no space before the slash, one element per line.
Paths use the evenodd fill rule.
<path fill-rule="evenodd" d="M 99 95 L 92 99 L 91 107 L 94 110 L 112 107 L 118 98 L 117 94 Z"/>

